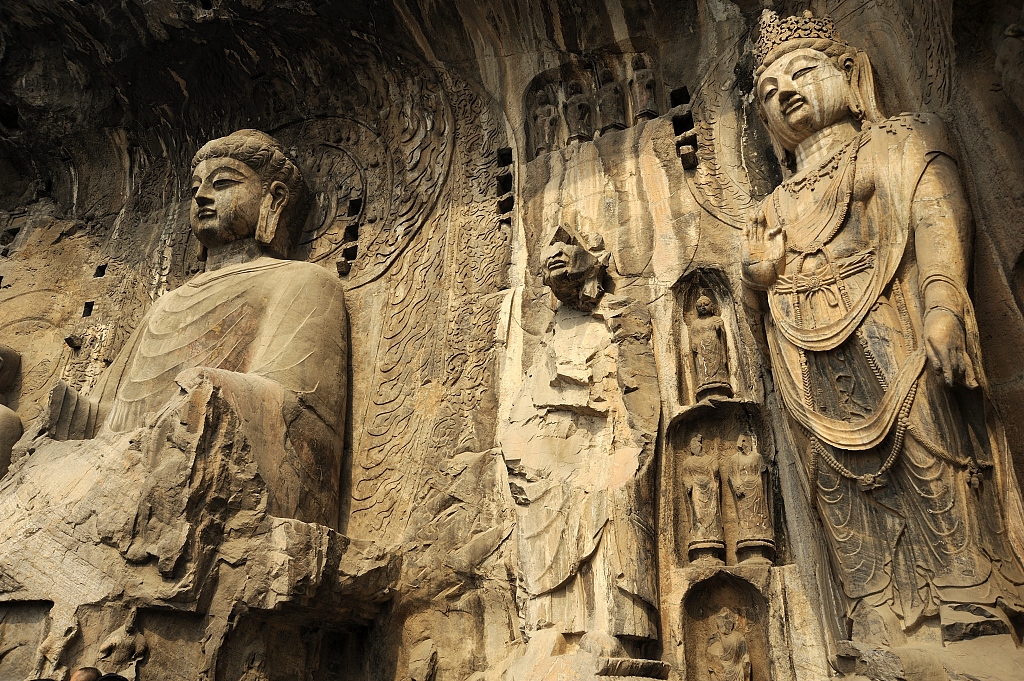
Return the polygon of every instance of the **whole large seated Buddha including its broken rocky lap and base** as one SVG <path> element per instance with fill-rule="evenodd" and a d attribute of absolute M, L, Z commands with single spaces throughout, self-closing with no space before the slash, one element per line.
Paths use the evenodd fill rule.
<path fill-rule="evenodd" d="M 333 531 L 344 296 L 288 259 L 303 179 L 274 139 L 241 130 L 199 151 L 191 186 L 206 271 L 154 303 L 89 394 L 58 383 L 0 481 L 0 601 L 53 603 L 40 676 L 102 662 L 111 634 L 83 614 L 97 609 L 133 623 L 201 608 L 216 642 L 238 608 L 321 599 L 332 580 L 341 604 L 318 611 L 357 605 L 339 594 L 358 570 L 338 561 L 358 543 Z"/>

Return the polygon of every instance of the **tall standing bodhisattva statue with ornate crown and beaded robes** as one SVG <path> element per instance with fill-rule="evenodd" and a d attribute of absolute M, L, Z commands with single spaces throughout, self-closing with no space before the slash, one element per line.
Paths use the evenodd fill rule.
<path fill-rule="evenodd" d="M 766 11 L 758 107 L 792 174 L 744 230 L 853 637 L 1024 612 L 1020 493 L 985 396 L 971 218 L 941 122 L 886 119 L 828 18 Z"/>

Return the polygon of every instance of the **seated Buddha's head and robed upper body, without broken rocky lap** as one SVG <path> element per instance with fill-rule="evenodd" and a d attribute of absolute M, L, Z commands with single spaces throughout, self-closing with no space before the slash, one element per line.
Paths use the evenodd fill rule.
<path fill-rule="evenodd" d="M 196 154 L 191 191 L 206 271 L 154 303 L 88 399 L 58 386 L 51 411 L 74 410 L 57 430 L 62 439 L 132 431 L 210 383 L 240 414 L 268 512 L 336 527 L 344 294 L 327 269 L 286 257 L 308 209 L 299 169 L 272 137 L 240 130 Z"/>

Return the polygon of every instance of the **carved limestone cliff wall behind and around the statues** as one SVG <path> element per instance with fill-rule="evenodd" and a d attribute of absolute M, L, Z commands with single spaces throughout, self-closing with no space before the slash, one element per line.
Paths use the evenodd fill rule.
<path fill-rule="evenodd" d="M 27 552 L 22 577 L 0 569 L 0 679 L 66 678 L 92 664 L 138 679 L 479 681 L 523 669 L 705 679 L 724 664 L 709 662 L 710 645 L 739 650 L 733 631 L 745 637 L 746 678 L 824 678 L 837 661 L 869 675 L 870 655 L 841 643 L 848 604 L 826 567 L 799 438 L 783 423 L 764 301 L 740 276 L 739 227 L 783 177 L 753 104 L 766 5 L 830 15 L 870 53 L 887 115 L 929 111 L 945 122 L 976 229 L 969 292 L 985 369 L 1024 479 L 1017 5 L 9 0 L 0 6 L 0 346 L 20 363 L 9 380 L 0 371 L 0 407 L 20 424 L 2 412 L 0 434 L 28 434 L 10 461 L 0 449 L 0 474 L 9 468 L 0 509 L 23 513 L 17 527 L 57 533 L 62 548 L 0 533 L 12 542 L 0 544 L 0 564 Z M 208 487 L 184 468 L 144 467 L 125 478 L 139 488 L 102 486 L 102 503 L 69 496 L 81 512 L 70 534 L 32 524 L 25 495 L 35 493 L 18 490 L 26 475 L 43 476 L 33 470 L 48 466 L 73 485 L 161 451 L 126 440 L 121 458 L 89 466 L 67 443 L 33 460 L 42 445 L 32 438 L 49 437 L 58 381 L 88 398 L 154 302 L 203 271 L 188 225 L 190 161 L 243 128 L 295 158 L 313 197 L 295 257 L 345 289 L 345 459 L 331 481 L 340 527 L 241 517 L 241 507 L 210 501 L 238 492 L 237 471 Z M 656 380 L 607 387 L 642 395 L 643 411 L 659 415 L 645 430 L 654 463 L 643 491 L 657 556 L 644 566 L 657 593 L 644 597 L 658 600 L 648 608 L 657 635 L 625 647 L 527 622 L 529 533 L 518 519 L 522 487 L 509 478 L 521 471 L 502 449 L 523 439 L 517 395 L 559 314 L 540 268 L 565 225 L 603 238 L 608 294 L 650 317 L 643 343 Z M 714 399 L 698 394 L 693 365 L 701 296 L 721 324 L 727 374 Z M 631 332 L 616 333 L 621 342 Z M 226 413 L 218 399 L 204 393 L 203 413 Z M 744 436 L 744 454 L 763 461 L 751 469 L 764 469 L 770 565 L 744 560 L 749 519 L 721 481 L 712 562 L 689 555 L 682 462 L 698 433 L 716 461 Z M 188 437 L 174 457 L 191 469 L 201 445 Z M 221 463 L 248 471 L 236 486 L 259 498 L 264 481 L 244 449 Z M 176 492 L 154 492 L 151 474 Z M 163 509 L 148 530 L 143 506 Z M 96 525 L 100 507 L 132 520 Z M 211 539 L 196 528 L 214 516 L 224 535 Z M 133 541 L 172 535 L 173 546 L 128 555 Z M 57 580 L 32 591 L 26 574 L 60 565 L 61 551 L 91 565 L 71 572 L 89 576 L 85 596 Z"/>

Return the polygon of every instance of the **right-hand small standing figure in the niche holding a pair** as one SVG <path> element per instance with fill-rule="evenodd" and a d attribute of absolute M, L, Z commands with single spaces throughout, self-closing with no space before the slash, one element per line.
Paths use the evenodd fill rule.
<path fill-rule="evenodd" d="M 729 487 L 736 502 L 736 557 L 739 562 L 770 563 L 775 553 L 775 530 L 768 510 L 767 471 L 751 438 L 736 438 L 729 459 Z"/>

